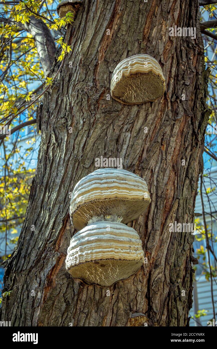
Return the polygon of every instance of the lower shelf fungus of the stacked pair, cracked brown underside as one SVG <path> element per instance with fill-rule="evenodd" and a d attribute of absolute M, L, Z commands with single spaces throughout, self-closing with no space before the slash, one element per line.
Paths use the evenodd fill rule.
<path fill-rule="evenodd" d="M 144 263 L 138 233 L 119 222 L 96 222 L 71 239 L 65 267 L 87 285 L 111 286 L 128 279 Z"/>

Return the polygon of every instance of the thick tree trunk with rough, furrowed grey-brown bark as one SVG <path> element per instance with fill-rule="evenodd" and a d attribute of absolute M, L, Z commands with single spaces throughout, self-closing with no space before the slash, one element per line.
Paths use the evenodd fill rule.
<path fill-rule="evenodd" d="M 44 96 L 37 175 L 6 267 L 5 290 L 12 292 L 1 318 L 11 326 L 188 324 L 193 236 L 171 233 L 169 224 L 194 221 L 209 116 L 199 17 L 197 0 L 85 0 L 79 9 L 69 30 L 72 52 Z M 175 25 L 196 27 L 196 39 L 170 37 Z M 138 53 L 162 66 L 164 96 L 141 105 L 107 101 L 116 65 Z M 58 68 L 53 65 L 49 76 Z M 110 296 L 107 288 L 88 287 L 65 270 L 74 233 L 69 193 L 96 169 L 101 155 L 121 157 L 124 169 L 145 178 L 152 199 L 129 224 L 139 233 L 148 264 L 109 287 Z"/>

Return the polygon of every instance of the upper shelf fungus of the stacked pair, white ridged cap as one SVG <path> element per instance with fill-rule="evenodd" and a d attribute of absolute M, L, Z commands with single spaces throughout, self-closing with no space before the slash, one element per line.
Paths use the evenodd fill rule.
<path fill-rule="evenodd" d="M 93 216 L 118 215 L 122 223 L 137 219 L 150 203 L 146 181 L 114 168 L 95 170 L 76 184 L 70 201 L 70 217 L 80 230 Z"/>

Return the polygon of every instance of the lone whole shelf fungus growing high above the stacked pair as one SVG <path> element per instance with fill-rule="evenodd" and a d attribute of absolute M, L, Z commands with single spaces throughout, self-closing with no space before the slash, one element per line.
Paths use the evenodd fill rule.
<path fill-rule="evenodd" d="M 121 61 L 111 77 L 111 96 L 123 104 L 141 104 L 160 98 L 165 79 L 160 64 L 148 54 Z"/>

